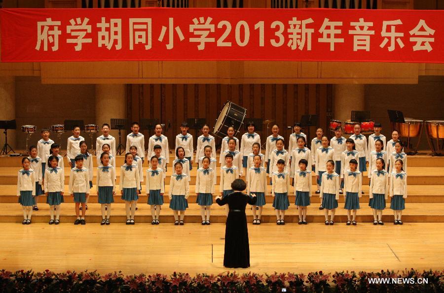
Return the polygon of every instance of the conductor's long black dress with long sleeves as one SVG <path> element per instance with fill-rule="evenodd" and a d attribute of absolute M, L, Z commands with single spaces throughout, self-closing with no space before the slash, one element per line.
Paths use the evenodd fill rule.
<path fill-rule="evenodd" d="M 250 266 L 250 245 L 245 207 L 247 203 L 251 205 L 256 203 L 256 196 L 250 197 L 241 192 L 235 192 L 223 199 L 216 199 L 216 202 L 219 205 L 228 204 L 230 209 L 226 218 L 223 266 L 247 268 Z M 240 210 L 240 212 L 232 210 Z"/>

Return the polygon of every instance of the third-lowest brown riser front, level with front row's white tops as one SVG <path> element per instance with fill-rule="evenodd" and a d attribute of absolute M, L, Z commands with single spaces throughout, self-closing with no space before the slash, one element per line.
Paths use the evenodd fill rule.
<path fill-rule="evenodd" d="M 170 176 L 167 176 L 165 178 L 165 184 L 170 184 Z M 245 177 L 243 177 L 242 179 L 245 180 Z M 367 176 L 365 176 L 363 178 L 363 185 L 369 185 L 369 178 Z M 65 185 L 68 185 L 70 181 L 70 176 L 69 174 L 65 174 Z M 96 175 L 94 175 L 93 178 L 93 184 L 96 185 Z M 312 185 L 316 185 L 316 177 L 312 176 Z M 120 183 L 120 176 L 116 176 L 116 185 L 118 185 Z M 17 175 L 6 175 L 6 176 L 0 176 L 0 185 L 16 185 L 17 184 Z M 191 175 L 191 180 L 189 182 L 190 185 L 195 185 L 196 184 L 196 177 Z M 217 180 L 216 180 L 216 185 L 220 184 L 220 177 L 217 176 Z M 267 180 L 267 184 L 269 185 L 270 182 L 269 180 Z M 411 175 L 408 176 L 408 184 L 409 185 L 444 185 L 444 176 L 427 176 L 427 175 Z"/>

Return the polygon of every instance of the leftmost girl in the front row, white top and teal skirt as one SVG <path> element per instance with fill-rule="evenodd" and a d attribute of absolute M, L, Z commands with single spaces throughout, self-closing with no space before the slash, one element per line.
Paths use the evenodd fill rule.
<path fill-rule="evenodd" d="M 31 161 L 28 158 L 22 159 L 23 168 L 17 175 L 17 196 L 23 208 L 23 225 L 31 224 L 33 205 L 36 204 L 36 172 L 30 168 Z"/>

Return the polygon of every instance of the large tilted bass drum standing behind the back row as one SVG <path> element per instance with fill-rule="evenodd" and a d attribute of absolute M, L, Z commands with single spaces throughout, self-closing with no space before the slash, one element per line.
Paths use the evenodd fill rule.
<path fill-rule="evenodd" d="M 214 135 L 223 138 L 226 136 L 226 130 L 232 126 L 234 127 L 234 135 L 236 136 L 244 124 L 246 113 L 247 109 L 227 101 L 214 125 Z"/>

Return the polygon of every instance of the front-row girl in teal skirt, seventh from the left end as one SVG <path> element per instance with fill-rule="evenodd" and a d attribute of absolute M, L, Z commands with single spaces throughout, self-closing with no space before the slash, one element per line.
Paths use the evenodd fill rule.
<path fill-rule="evenodd" d="M 188 207 L 189 183 L 188 176 L 182 173 L 183 165 L 180 162 L 174 164 L 175 173 L 170 178 L 170 208 L 174 214 L 174 225 L 184 225 L 185 209 Z M 180 221 L 179 221 L 179 212 Z"/>

